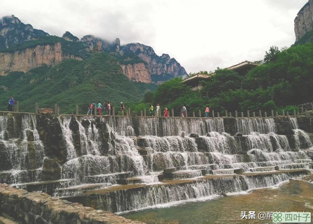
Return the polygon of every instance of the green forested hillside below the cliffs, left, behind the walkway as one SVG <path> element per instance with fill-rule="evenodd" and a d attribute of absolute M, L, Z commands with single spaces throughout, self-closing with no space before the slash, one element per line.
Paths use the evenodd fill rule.
<path fill-rule="evenodd" d="M 61 113 L 75 111 L 76 104 L 86 112 L 90 101 L 111 101 L 119 107 L 118 102 L 139 101 L 146 90 L 155 89 L 155 85 L 129 81 L 117 59 L 108 53 L 93 54 L 83 61 L 67 59 L 25 74 L 11 72 L 0 76 L 0 83 L 0 110 L 7 110 L 7 100 L 13 95 L 21 112 L 33 112 L 36 102 L 42 108 L 57 103 Z"/>

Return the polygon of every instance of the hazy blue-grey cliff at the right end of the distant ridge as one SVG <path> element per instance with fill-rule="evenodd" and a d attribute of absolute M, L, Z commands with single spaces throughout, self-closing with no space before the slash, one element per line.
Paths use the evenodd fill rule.
<path fill-rule="evenodd" d="M 165 76 L 168 79 L 187 75 L 186 70 L 174 58 L 171 58 L 168 54 L 158 56 L 150 46 L 133 43 L 121 46 L 121 50 L 124 53 L 132 52 L 144 60 L 148 64 L 152 81 L 162 81 Z"/>

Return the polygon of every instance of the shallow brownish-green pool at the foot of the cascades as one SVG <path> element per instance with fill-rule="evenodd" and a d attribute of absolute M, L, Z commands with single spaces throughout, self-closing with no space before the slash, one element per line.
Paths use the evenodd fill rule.
<path fill-rule="evenodd" d="M 313 215 L 313 184 L 290 183 L 281 188 L 257 189 L 242 195 L 230 195 L 209 201 L 193 201 L 177 206 L 132 211 L 122 214 L 147 224 L 228 224 L 273 223 L 258 219 L 259 212 L 305 211 Z M 256 212 L 256 219 L 241 219 L 242 211 Z"/>

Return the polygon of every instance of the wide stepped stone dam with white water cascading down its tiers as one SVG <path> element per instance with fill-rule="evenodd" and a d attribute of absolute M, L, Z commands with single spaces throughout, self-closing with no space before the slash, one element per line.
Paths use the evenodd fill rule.
<path fill-rule="evenodd" d="M 308 175 L 312 137 L 302 116 L 1 112 L 0 183 L 120 214 Z"/>

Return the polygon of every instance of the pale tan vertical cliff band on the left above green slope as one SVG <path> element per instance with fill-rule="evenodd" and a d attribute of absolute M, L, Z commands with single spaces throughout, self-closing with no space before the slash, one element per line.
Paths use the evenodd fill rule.
<path fill-rule="evenodd" d="M 0 75 L 5 76 L 11 71 L 26 72 L 41 65 L 54 66 L 66 58 L 82 60 L 62 51 L 61 43 L 54 45 L 37 45 L 14 53 L 0 53 Z"/>

